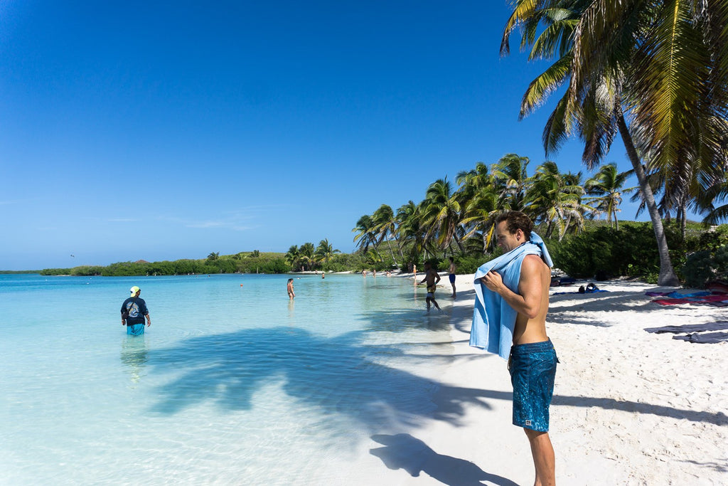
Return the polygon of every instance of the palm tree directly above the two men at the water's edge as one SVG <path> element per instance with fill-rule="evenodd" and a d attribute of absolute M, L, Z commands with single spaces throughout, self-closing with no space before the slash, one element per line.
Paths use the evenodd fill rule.
<path fill-rule="evenodd" d="M 427 229 L 427 239 L 435 240 L 438 248 L 448 248 L 454 240 L 461 253 L 462 244 L 457 235 L 460 224 L 460 203 L 448 179 L 438 179 L 430 184 L 425 193 L 422 219 Z"/>

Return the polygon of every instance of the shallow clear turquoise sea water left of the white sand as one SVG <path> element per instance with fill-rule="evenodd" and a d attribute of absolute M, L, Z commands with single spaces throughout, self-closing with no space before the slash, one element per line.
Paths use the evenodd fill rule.
<path fill-rule="evenodd" d="M 448 292 L 426 314 L 405 278 L 301 276 L 294 302 L 288 278 L 0 275 L 0 482 L 339 484 L 432 416 Z"/>

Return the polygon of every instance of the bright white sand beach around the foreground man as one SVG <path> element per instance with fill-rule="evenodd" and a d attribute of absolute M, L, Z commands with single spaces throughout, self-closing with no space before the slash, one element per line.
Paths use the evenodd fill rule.
<path fill-rule="evenodd" d="M 657 305 L 646 291 L 675 289 L 640 282 L 598 282 L 607 292 L 578 294 L 581 283 L 551 289 L 547 322 L 561 361 L 550 426 L 557 483 L 728 484 L 728 343 L 644 330 L 728 327 L 728 307 Z M 506 363 L 468 345 L 472 275 L 459 275 L 457 286 L 451 364 L 444 373 L 421 370 L 443 383 L 435 418 L 409 433 L 374 436 L 351 483 L 533 484 L 526 436 L 510 423 Z M 451 300 L 446 279 L 440 287 L 440 302 Z"/>

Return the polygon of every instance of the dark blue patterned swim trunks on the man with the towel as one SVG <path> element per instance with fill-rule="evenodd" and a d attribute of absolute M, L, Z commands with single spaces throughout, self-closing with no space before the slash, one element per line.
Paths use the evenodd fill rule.
<path fill-rule="evenodd" d="M 548 431 L 548 408 L 553 396 L 557 362 L 551 340 L 510 348 L 508 371 L 513 384 L 514 426 Z"/>

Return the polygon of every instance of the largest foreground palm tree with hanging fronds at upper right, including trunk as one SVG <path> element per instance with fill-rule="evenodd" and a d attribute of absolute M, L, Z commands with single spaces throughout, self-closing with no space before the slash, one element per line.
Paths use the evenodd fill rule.
<path fill-rule="evenodd" d="M 617 134 L 640 184 L 660 253 L 662 285 L 677 285 L 660 212 L 646 176 L 669 177 L 668 198 L 698 174 L 724 167 L 728 122 L 728 8 L 724 0 L 620 2 L 518 0 L 507 23 L 523 27 L 531 58 L 555 58 L 523 96 L 521 116 L 568 81 L 544 131 L 548 152 L 570 135 L 585 142 L 582 159 L 598 165 Z M 628 123 L 629 121 L 629 123 Z M 705 179 L 705 178 L 704 178 Z"/>

